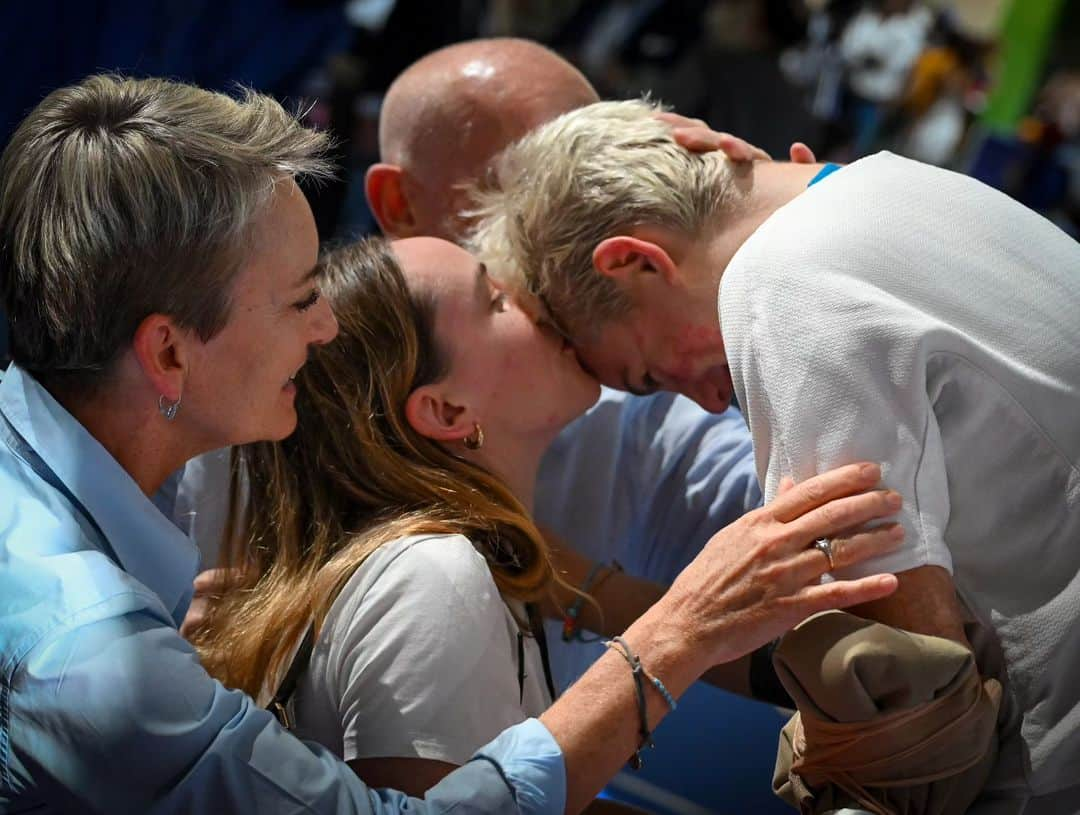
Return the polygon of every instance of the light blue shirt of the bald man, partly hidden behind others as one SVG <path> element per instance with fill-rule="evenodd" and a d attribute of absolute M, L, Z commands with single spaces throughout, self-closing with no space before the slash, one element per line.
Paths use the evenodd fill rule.
<path fill-rule="evenodd" d="M 217 563 L 228 515 L 228 453 L 188 462 L 172 503 L 163 502 L 198 544 L 203 569 Z M 673 393 L 604 388 L 544 456 L 535 514 L 585 557 L 667 584 L 710 538 L 760 503 L 750 431 L 735 408 L 708 413 Z M 598 642 L 564 643 L 557 621 L 546 629 L 556 689 L 604 653 Z"/>

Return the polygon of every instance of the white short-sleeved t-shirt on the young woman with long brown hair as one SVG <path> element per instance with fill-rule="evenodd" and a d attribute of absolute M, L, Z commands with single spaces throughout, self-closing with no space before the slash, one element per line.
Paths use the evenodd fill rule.
<path fill-rule="evenodd" d="M 524 609 L 517 613 L 524 619 Z M 487 561 L 462 535 L 414 535 L 370 555 L 330 608 L 291 705 L 296 733 L 346 761 L 463 764 L 551 704 Z"/>

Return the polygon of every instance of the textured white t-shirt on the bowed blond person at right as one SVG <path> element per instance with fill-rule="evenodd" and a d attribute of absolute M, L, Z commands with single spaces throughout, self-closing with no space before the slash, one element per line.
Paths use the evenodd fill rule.
<path fill-rule="evenodd" d="M 1020 723 L 988 789 L 1078 785 L 1080 245 L 971 178 L 878 153 L 773 214 L 719 310 L 766 498 L 783 475 L 882 462 L 905 543 L 850 572 L 950 570 L 1003 649 Z"/>

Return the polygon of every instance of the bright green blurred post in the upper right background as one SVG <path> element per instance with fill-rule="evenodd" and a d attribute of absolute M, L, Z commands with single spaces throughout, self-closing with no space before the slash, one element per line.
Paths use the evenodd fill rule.
<path fill-rule="evenodd" d="M 1054 24 L 1065 0 L 1013 0 L 1001 25 L 1001 64 L 983 124 L 990 131 L 1012 132 L 1031 109 L 1042 78 Z"/>

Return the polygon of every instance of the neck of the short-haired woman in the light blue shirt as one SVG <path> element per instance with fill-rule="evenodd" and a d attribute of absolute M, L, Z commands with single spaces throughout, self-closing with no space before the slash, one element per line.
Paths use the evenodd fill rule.
<path fill-rule="evenodd" d="M 104 447 L 148 498 L 199 451 L 170 432 L 157 403 L 126 388 L 104 388 L 92 397 L 52 392 L 64 408 Z"/>

